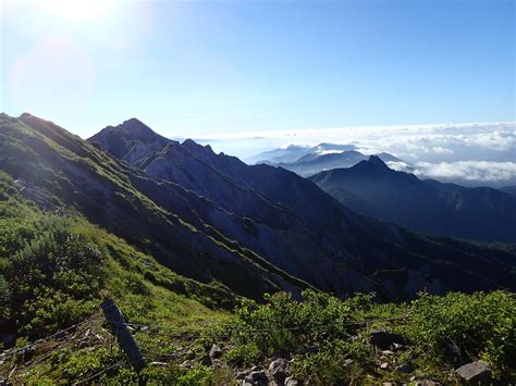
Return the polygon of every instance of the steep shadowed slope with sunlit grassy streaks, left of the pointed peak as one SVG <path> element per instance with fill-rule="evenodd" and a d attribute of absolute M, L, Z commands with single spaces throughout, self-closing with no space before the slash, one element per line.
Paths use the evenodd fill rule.
<path fill-rule="evenodd" d="M 218 281 L 255 298 L 306 286 L 205 226 L 195 210 L 210 212 L 213 208 L 206 200 L 177 185 L 149 179 L 51 122 L 28 114 L 0 115 L 0 170 L 42 209 L 83 213 L 194 279 Z M 167 206 L 152 200 L 156 192 L 167 197 Z M 192 204 L 195 210 L 186 211 Z M 197 219 L 197 226 L 188 219 Z"/>

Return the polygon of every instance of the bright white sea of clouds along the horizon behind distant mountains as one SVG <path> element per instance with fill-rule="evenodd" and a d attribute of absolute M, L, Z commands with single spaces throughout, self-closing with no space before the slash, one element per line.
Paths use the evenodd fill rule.
<path fill-rule="evenodd" d="M 333 142 L 354 144 L 366 154 L 385 151 L 411 164 L 516 162 L 515 122 L 221 133 L 218 139 L 216 150 L 244 159 L 288 144 Z"/>

